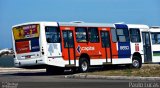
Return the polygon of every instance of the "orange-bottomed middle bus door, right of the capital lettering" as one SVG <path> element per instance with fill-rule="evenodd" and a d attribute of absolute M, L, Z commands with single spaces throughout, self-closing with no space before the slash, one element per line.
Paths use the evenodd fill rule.
<path fill-rule="evenodd" d="M 104 49 L 105 52 L 105 58 L 106 58 L 106 63 L 112 63 L 112 55 L 111 55 L 111 41 L 110 41 L 110 36 L 109 36 L 109 31 L 101 31 L 101 43 L 102 43 L 102 48 Z M 110 62 L 108 62 L 108 58 L 111 59 Z"/>

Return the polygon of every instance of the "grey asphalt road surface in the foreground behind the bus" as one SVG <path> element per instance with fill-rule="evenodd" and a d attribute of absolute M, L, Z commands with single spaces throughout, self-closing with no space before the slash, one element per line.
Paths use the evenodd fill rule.
<path fill-rule="evenodd" d="M 1 88 L 160 88 L 160 83 L 146 80 L 107 80 L 65 78 L 72 75 L 66 72 L 62 75 L 48 75 L 45 69 L 3 69 L 0 70 Z"/>

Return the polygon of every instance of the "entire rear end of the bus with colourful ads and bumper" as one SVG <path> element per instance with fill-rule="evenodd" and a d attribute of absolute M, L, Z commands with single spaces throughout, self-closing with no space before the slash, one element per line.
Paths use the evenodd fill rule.
<path fill-rule="evenodd" d="M 12 29 L 16 67 L 44 64 L 40 52 L 40 24 L 23 24 Z"/>

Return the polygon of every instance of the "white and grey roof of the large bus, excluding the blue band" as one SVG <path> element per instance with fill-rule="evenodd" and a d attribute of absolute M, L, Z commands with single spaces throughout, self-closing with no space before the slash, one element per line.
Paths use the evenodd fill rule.
<path fill-rule="evenodd" d="M 17 24 L 12 26 L 22 26 L 28 24 L 44 24 L 44 25 L 54 25 L 57 26 L 77 26 L 77 27 L 115 27 L 114 24 L 111 23 L 85 23 L 85 22 L 48 22 L 48 21 L 38 21 L 38 22 L 27 22 L 22 24 Z M 149 29 L 149 26 L 143 24 L 126 24 L 129 28 L 141 28 L 141 29 Z"/>

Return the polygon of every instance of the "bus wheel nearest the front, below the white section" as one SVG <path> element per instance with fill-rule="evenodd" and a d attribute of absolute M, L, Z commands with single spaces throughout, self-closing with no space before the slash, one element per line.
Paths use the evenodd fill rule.
<path fill-rule="evenodd" d="M 139 58 L 139 57 L 137 57 L 137 56 L 133 56 L 133 59 L 132 59 L 132 67 L 133 67 L 133 68 L 141 68 L 141 67 L 142 67 L 141 58 Z"/>

